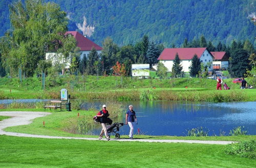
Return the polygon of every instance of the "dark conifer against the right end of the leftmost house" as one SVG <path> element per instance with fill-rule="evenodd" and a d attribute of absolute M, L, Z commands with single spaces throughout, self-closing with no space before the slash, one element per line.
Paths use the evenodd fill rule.
<path fill-rule="evenodd" d="M 97 50 L 93 47 L 88 55 L 87 72 L 89 75 L 96 74 L 97 67 L 95 67 L 94 65 L 95 61 L 99 61 L 99 54 Z"/>

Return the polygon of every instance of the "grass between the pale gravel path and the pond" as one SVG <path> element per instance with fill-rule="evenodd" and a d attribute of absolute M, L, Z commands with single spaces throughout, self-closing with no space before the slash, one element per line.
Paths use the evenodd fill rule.
<path fill-rule="evenodd" d="M 9 110 L 9 109 L 8 109 Z M 39 109 L 12 109 L 13 111 L 40 111 Z M 3 109 L 2 109 L 3 111 Z M 49 110 L 46 110 L 50 112 Z M 29 125 L 20 125 L 15 127 L 8 127 L 5 131 L 50 135 L 50 136 L 73 136 L 73 137 L 98 137 L 97 135 L 82 135 L 70 133 L 73 129 L 73 124 L 78 121 L 78 113 L 80 117 L 86 116 L 92 121 L 92 116 L 96 115 L 96 111 L 86 110 L 73 110 L 72 112 L 53 112 L 46 117 L 40 117 L 33 120 L 33 123 Z M 111 114 L 111 113 L 110 113 Z M 1 116 L 1 112 L 0 112 Z M 43 121 L 45 121 L 45 127 L 43 127 Z M 95 125 L 100 127 L 99 124 Z M 129 138 L 128 135 L 122 135 L 122 138 Z M 256 139 L 256 135 L 244 135 L 244 136 L 150 136 L 150 135 L 134 135 L 134 138 L 143 139 L 186 139 L 186 140 L 212 140 L 212 141 L 244 141 L 247 139 Z"/>

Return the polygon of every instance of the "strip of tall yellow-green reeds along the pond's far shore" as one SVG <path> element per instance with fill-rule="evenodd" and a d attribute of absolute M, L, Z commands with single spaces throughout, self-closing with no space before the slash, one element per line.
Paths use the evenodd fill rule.
<path fill-rule="evenodd" d="M 243 91 L 109 91 L 109 92 L 70 92 L 71 99 L 87 100 L 140 100 L 140 101 L 206 101 L 206 102 L 231 102 L 246 101 L 247 96 Z M 4 99 L 8 96 L 2 95 Z M 0 93 L 1 98 L 1 93 Z M 59 92 L 47 91 L 38 93 L 38 99 L 59 99 Z"/>

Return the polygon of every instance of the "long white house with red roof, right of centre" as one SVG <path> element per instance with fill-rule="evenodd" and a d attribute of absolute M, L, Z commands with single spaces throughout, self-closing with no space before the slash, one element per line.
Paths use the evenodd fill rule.
<path fill-rule="evenodd" d="M 182 71 L 184 72 L 189 72 L 188 68 L 195 54 L 197 54 L 200 61 L 204 64 L 211 64 L 214 59 L 207 48 L 165 48 L 157 60 L 163 63 L 168 71 L 172 71 L 176 53 L 179 55 Z M 212 71 L 212 66 L 209 68 L 209 71 Z"/>

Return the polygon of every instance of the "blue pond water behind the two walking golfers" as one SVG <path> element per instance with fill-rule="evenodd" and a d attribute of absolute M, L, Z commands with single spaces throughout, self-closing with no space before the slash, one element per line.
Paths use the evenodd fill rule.
<path fill-rule="evenodd" d="M 104 102 L 94 102 L 102 105 Z M 167 102 L 152 101 L 123 102 L 125 106 L 132 104 L 136 112 L 138 125 L 134 133 L 140 131 L 147 135 L 177 135 L 185 136 L 188 129 L 206 127 L 209 135 L 228 135 L 237 126 L 244 126 L 248 134 L 256 135 L 256 102 Z M 109 111 L 111 114 L 111 111 Z M 125 123 L 125 113 L 122 119 L 113 122 Z M 130 127 L 120 127 L 120 134 L 129 134 Z M 95 129 L 98 134 L 100 129 Z"/>

